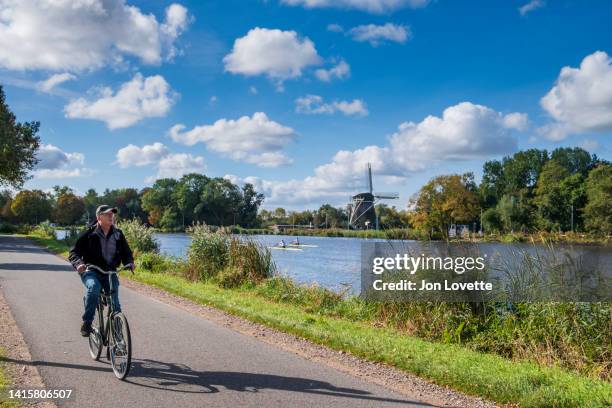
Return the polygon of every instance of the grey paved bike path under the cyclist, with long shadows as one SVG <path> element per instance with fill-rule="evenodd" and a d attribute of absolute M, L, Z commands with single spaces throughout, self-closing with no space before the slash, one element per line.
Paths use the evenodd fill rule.
<path fill-rule="evenodd" d="M 74 389 L 59 406 L 427 406 L 126 287 L 134 354 L 122 382 L 104 357 L 89 357 L 79 334 L 84 288 L 68 262 L 0 235 L 0 285 L 46 387 Z"/>

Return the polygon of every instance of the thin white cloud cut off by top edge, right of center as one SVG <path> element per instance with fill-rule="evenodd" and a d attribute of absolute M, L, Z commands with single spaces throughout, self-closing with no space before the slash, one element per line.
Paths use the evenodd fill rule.
<path fill-rule="evenodd" d="M 370 13 L 390 13 L 401 8 L 425 7 L 430 0 L 281 0 L 290 6 L 303 6 L 306 8 L 336 7 L 356 9 Z"/>

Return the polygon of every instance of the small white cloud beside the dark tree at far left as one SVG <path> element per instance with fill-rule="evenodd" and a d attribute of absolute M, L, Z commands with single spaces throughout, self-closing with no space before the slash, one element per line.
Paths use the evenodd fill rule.
<path fill-rule="evenodd" d="M 90 169 L 82 167 L 85 164 L 85 156 L 82 153 L 67 153 L 52 144 L 43 144 L 39 147 L 36 157 L 39 162 L 34 168 L 33 176 L 38 179 L 91 174 Z"/>

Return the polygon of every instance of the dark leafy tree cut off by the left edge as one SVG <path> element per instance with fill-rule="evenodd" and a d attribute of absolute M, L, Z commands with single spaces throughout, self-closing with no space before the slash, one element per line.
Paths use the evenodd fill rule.
<path fill-rule="evenodd" d="M 0 185 L 20 188 L 30 178 L 28 172 L 38 163 L 39 127 L 38 122 L 17 122 L 0 86 Z"/>

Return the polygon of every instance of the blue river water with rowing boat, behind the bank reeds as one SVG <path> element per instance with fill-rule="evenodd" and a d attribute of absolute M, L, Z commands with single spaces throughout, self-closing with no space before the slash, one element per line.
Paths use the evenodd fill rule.
<path fill-rule="evenodd" d="M 190 237 L 184 233 L 156 234 L 161 251 L 167 255 L 184 256 Z M 281 239 L 286 243 L 295 237 L 286 235 L 249 235 L 265 246 L 273 246 Z M 363 243 L 387 242 L 394 250 L 409 251 L 412 254 L 431 254 L 450 251 L 453 255 L 468 251 L 471 255 L 486 256 L 490 264 L 515 262 L 516 255 L 529 252 L 545 253 L 541 245 L 532 244 L 450 244 L 444 242 L 389 241 L 384 239 L 299 237 L 302 244 L 313 245 L 302 251 L 272 250 L 277 269 L 300 283 L 317 283 L 333 290 L 359 291 L 361 274 L 361 246 Z M 575 262 L 586 268 L 612 270 L 612 246 L 610 245 L 556 245 L 556 252 L 567 253 Z"/>

